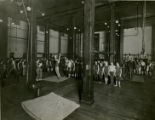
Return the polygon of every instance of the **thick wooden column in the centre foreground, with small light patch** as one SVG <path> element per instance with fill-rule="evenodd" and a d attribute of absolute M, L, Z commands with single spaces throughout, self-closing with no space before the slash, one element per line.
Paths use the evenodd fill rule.
<path fill-rule="evenodd" d="M 92 51 L 94 42 L 95 0 L 85 0 L 84 4 L 84 76 L 82 102 L 94 102 L 94 87 L 92 79 Z"/>

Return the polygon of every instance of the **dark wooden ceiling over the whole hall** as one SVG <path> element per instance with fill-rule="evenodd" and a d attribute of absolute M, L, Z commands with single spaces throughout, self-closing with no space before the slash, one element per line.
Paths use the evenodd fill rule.
<path fill-rule="evenodd" d="M 1 2 L 3 1 L 3 2 Z M 25 19 L 20 14 L 21 6 L 15 1 L 1 0 L 0 11 L 6 10 L 8 16 L 15 19 Z M 12 1 L 12 2 L 11 2 Z M 27 0 L 25 0 L 26 3 Z M 83 28 L 83 1 L 82 0 L 35 0 L 37 9 L 37 22 L 40 25 L 49 25 L 53 29 L 66 30 L 68 27 Z M 124 28 L 141 26 L 142 1 L 95 0 L 95 30 L 105 30 L 105 22 L 110 20 L 110 5 L 115 4 L 115 17 L 119 19 Z M 147 3 L 147 24 L 155 23 L 155 2 Z M 45 16 L 42 16 L 45 13 Z"/>

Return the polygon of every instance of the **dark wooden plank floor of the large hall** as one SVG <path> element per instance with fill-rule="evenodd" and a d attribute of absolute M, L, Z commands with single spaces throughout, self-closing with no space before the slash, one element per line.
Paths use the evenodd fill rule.
<path fill-rule="evenodd" d="M 78 81 L 41 82 L 41 95 L 53 91 L 79 102 Z M 20 103 L 35 94 L 22 83 L 21 78 L 18 84 L 2 88 L 2 120 L 33 120 Z M 94 83 L 94 96 L 93 105 L 81 104 L 65 120 L 155 120 L 155 79 L 145 78 L 144 83 L 122 81 L 122 88 Z"/>

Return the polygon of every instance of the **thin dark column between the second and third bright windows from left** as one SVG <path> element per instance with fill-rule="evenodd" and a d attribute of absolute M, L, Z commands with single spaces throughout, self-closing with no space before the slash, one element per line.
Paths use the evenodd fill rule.
<path fill-rule="evenodd" d="M 45 44 L 44 44 L 45 57 L 49 58 L 49 28 L 45 26 Z"/>

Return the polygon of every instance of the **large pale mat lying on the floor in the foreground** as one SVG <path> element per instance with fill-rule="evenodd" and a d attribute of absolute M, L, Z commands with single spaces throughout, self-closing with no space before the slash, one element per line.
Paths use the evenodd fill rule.
<path fill-rule="evenodd" d="M 23 109 L 35 120 L 63 120 L 79 105 L 55 93 L 21 103 Z"/>

